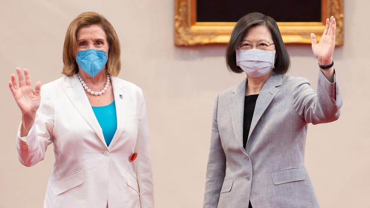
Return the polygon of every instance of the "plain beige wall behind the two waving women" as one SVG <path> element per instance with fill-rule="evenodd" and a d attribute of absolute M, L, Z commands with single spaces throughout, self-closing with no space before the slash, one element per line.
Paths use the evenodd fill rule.
<path fill-rule="evenodd" d="M 0 207 L 41 207 L 54 162 L 52 146 L 34 167 L 18 161 L 15 135 L 21 114 L 8 88 L 10 74 L 15 67 L 28 68 L 33 84 L 61 77 L 68 24 L 90 10 L 105 15 L 118 33 L 119 77 L 144 90 L 155 206 L 202 206 L 213 101 L 245 75 L 228 73 L 225 45 L 174 46 L 173 0 L 102 2 L 0 1 Z M 309 125 L 306 167 L 322 207 L 370 206 L 369 7 L 367 0 L 344 1 L 344 46 L 334 54 L 342 115 L 333 123 Z M 318 69 L 311 47 L 287 49 L 290 74 L 308 78 L 316 88 Z"/>

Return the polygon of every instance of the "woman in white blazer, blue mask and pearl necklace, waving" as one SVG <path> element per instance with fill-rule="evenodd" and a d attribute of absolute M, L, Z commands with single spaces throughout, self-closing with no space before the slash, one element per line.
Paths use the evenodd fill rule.
<path fill-rule="evenodd" d="M 109 51 L 109 52 L 108 52 Z M 31 88 L 27 69 L 9 87 L 22 112 L 19 161 L 30 167 L 53 143 L 55 163 L 45 208 L 154 206 L 148 124 L 142 90 L 118 77 L 120 43 L 103 16 L 86 12 L 70 24 L 65 75 Z"/>

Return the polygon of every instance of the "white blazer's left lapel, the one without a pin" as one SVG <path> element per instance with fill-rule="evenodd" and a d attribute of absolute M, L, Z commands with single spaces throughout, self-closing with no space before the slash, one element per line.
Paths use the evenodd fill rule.
<path fill-rule="evenodd" d="M 103 131 L 98 123 L 97 118 L 95 117 L 94 111 L 92 111 L 91 104 L 85 93 L 85 89 L 78 80 L 77 74 L 67 77 L 63 90 L 77 111 L 85 119 L 86 123 L 90 125 L 105 147 L 107 147 L 107 144 L 104 140 Z"/>

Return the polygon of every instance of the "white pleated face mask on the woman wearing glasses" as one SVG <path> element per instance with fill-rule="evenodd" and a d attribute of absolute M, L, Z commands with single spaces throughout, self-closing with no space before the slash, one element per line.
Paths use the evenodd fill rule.
<path fill-rule="evenodd" d="M 236 50 L 236 66 L 250 77 L 262 77 L 274 68 L 275 53 L 259 49 Z"/>

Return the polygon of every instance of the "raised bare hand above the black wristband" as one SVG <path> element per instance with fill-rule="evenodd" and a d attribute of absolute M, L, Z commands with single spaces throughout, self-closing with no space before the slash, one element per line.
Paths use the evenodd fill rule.
<path fill-rule="evenodd" d="M 335 29 L 337 24 L 334 16 L 326 19 L 324 33 L 317 43 L 315 34 L 311 33 L 312 51 L 320 65 L 329 65 L 333 60 L 335 47 Z"/>

